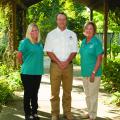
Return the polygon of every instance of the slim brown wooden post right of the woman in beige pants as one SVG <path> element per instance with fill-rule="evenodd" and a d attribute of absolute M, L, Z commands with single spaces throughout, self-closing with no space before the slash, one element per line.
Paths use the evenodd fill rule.
<path fill-rule="evenodd" d="M 103 32 L 103 40 L 104 40 L 104 65 L 107 64 L 107 31 L 108 31 L 108 0 L 104 0 L 104 32 Z"/>

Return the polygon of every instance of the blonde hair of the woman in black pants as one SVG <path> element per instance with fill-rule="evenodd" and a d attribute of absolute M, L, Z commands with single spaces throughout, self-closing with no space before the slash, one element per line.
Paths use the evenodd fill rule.
<path fill-rule="evenodd" d="M 27 31 L 26 31 L 26 38 L 28 38 L 32 43 L 34 43 L 33 39 L 31 38 L 30 32 L 32 31 L 33 27 L 36 27 L 38 29 L 38 40 L 37 42 L 40 42 L 40 31 L 38 26 L 35 23 L 31 23 L 28 25 Z"/>

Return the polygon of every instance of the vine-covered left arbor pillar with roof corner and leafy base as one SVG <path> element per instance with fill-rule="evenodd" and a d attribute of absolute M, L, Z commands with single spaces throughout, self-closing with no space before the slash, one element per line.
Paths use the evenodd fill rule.
<path fill-rule="evenodd" d="M 25 36 L 27 8 L 41 0 L 0 0 L 0 6 L 9 7 L 8 46 L 3 54 L 7 66 L 17 67 L 16 50 L 19 41 Z"/>

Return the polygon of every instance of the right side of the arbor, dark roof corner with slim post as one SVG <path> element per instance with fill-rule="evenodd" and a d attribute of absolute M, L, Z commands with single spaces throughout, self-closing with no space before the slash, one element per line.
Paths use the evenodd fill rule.
<path fill-rule="evenodd" d="M 104 14 L 104 31 L 103 31 L 103 40 L 104 40 L 104 64 L 107 62 L 107 31 L 108 31 L 108 15 L 109 10 L 113 12 L 115 21 L 120 21 L 120 14 L 116 9 L 120 10 L 120 0 L 78 0 L 82 4 L 90 8 L 90 20 L 93 20 L 93 10 L 102 12 Z"/>

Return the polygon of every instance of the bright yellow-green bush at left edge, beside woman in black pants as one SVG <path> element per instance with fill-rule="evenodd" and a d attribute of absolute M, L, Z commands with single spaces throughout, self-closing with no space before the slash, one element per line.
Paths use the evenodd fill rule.
<path fill-rule="evenodd" d="M 12 99 L 13 92 L 22 88 L 22 82 L 18 71 L 0 65 L 0 103 L 4 104 Z"/>

